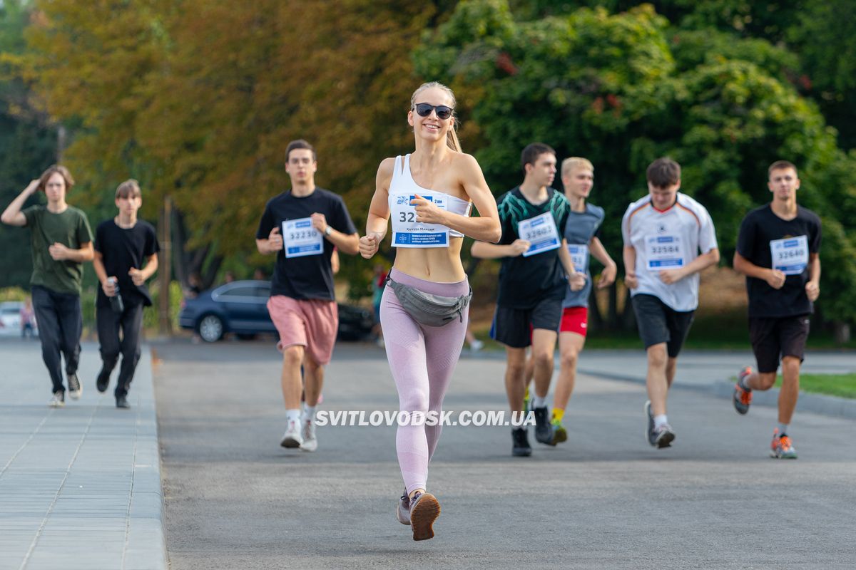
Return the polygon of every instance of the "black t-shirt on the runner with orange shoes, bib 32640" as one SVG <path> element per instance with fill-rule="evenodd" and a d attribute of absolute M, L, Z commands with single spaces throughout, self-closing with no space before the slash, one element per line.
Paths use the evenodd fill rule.
<path fill-rule="evenodd" d="M 773 267 L 770 242 L 777 239 L 805 236 L 808 253 L 820 251 L 820 218 L 810 209 L 797 206 L 794 220 L 782 220 L 773 213 L 770 204 L 753 209 L 740 224 L 737 252 L 758 267 Z M 786 275 L 782 289 L 773 289 L 764 279 L 746 278 L 749 294 L 749 316 L 787 317 L 810 314 L 811 301 L 805 295 L 811 262 L 802 273 Z"/>

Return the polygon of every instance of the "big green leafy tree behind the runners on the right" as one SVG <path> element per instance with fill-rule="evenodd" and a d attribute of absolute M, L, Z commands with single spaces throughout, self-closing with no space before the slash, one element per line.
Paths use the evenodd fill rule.
<path fill-rule="evenodd" d="M 722 32 L 675 32 L 651 5 L 610 15 L 576 9 L 520 20 L 504 0 L 462 2 L 449 22 L 415 51 L 417 71 L 473 97 L 464 104 L 484 147 L 477 157 L 496 191 L 520 180 L 519 152 L 541 140 L 558 155 L 596 166 L 593 200 L 605 207 L 604 238 L 621 250 L 618 221 L 645 193 L 645 167 L 669 155 L 683 165 L 683 191 L 710 210 L 725 257 L 740 220 L 769 201 L 766 167 L 786 157 L 800 167 L 800 201 L 826 222 L 823 246 L 830 314 L 853 319 L 840 303 L 851 279 L 852 156 L 811 100 L 784 77 L 794 56 L 762 39 Z M 833 309 L 835 308 L 835 309 Z"/>

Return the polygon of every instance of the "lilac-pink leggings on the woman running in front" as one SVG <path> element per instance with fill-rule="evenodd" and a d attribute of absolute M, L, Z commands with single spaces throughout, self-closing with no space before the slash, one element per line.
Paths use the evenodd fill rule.
<path fill-rule="evenodd" d="M 433 295 L 459 297 L 469 291 L 467 279 L 457 283 L 434 283 L 401 273 L 395 267 L 389 277 L 397 283 Z M 468 316 L 469 308 L 463 322 L 453 320 L 443 326 L 420 325 L 401 307 L 392 287 L 385 288 L 380 304 L 380 321 L 401 411 L 439 412 L 443 407 L 446 388 L 461 356 Z M 425 489 L 428 463 L 442 430 L 443 426 L 398 426 L 395 450 L 408 493 Z"/>

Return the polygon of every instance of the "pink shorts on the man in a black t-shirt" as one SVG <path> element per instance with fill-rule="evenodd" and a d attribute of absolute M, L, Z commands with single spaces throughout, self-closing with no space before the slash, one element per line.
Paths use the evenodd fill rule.
<path fill-rule="evenodd" d="M 313 361 L 321 365 L 330 362 L 339 328 L 336 301 L 274 295 L 268 299 L 268 313 L 279 332 L 277 349 L 300 344 Z"/>

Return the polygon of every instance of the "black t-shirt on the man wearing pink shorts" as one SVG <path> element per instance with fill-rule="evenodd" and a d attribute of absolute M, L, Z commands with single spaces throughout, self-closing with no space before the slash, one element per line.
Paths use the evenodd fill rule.
<path fill-rule="evenodd" d="M 324 214 L 327 224 L 337 232 L 348 235 L 357 232 L 342 197 L 323 188 L 316 188 L 306 197 L 295 197 L 291 192 L 283 192 L 271 198 L 265 206 L 256 238 L 267 239 L 275 227 L 282 233 L 283 221 L 308 218 L 316 212 Z M 335 300 L 333 269 L 330 267 L 333 244 L 329 239 L 324 239 L 322 243 L 324 252 L 316 256 L 286 258 L 285 251 L 279 250 L 276 254 L 270 295 L 285 295 L 294 299 Z"/>

